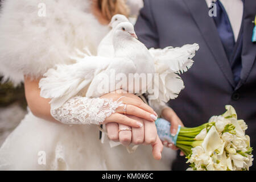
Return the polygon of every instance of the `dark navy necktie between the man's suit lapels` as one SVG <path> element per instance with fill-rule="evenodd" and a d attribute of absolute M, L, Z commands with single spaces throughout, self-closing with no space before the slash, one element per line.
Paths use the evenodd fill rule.
<path fill-rule="evenodd" d="M 232 26 L 224 6 L 219 0 L 217 0 L 215 3 L 217 16 L 213 16 L 213 20 L 216 24 L 218 35 L 220 36 L 226 56 L 228 57 L 230 67 L 232 68 L 234 81 L 237 84 L 240 81 L 240 74 L 242 70 L 242 31 L 240 32 L 240 36 L 238 37 L 236 43 L 234 40 Z"/>

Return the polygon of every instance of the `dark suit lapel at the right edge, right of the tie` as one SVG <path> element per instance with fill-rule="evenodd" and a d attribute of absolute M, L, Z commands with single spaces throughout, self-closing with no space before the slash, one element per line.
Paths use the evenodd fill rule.
<path fill-rule="evenodd" d="M 253 36 L 254 23 L 252 21 L 256 14 L 256 4 L 254 0 L 247 0 L 244 3 L 243 15 L 243 48 L 242 48 L 242 71 L 241 80 L 238 82 L 237 88 L 239 89 L 245 83 L 251 68 L 253 67 L 256 56 L 256 44 L 251 42 Z"/>

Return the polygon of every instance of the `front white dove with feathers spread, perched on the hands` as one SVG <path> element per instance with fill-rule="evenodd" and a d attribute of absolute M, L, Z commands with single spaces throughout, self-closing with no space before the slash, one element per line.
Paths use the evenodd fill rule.
<path fill-rule="evenodd" d="M 52 98 L 51 104 L 55 108 L 78 93 L 86 97 L 99 97 L 105 93 L 98 92 L 98 86 L 104 85 L 104 77 L 110 77 L 114 70 L 115 75 L 123 73 L 127 77 L 129 73 L 158 73 L 159 82 L 155 82 L 154 86 L 159 89 L 159 96 L 150 101 L 153 105 L 176 98 L 184 88 L 183 81 L 176 73 L 183 73 L 192 66 L 198 44 L 148 50 L 135 38 L 133 24 L 119 23 L 113 31 L 113 58 L 86 56 L 76 64 L 57 65 L 57 69 L 49 69 L 39 82 L 41 96 Z M 107 93 L 115 89 L 128 90 L 130 83 L 131 80 L 127 87 L 110 87 Z"/>

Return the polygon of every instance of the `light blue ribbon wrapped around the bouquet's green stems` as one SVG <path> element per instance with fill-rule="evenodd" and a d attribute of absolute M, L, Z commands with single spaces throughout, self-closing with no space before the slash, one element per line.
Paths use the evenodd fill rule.
<path fill-rule="evenodd" d="M 163 119 L 163 118 L 156 119 L 155 125 L 156 125 L 156 129 L 158 131 L 158 136 L 159 136 L 160 140 L 167 141 L 169 143 L 174 143 L 176 146 L 177 136 L 179 135 L 181 126 L 179 125 L 179 127 L 177 129 L 177 133 L 173 137 L 171 135 L 171 131 L 170 131 L 171 123 L 168 122 L 166 119 Z"/>

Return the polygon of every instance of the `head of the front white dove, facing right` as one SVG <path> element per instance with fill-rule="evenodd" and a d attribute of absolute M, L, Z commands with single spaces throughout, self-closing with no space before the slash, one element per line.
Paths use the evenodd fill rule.
<path fill-rule="evenodd" d="M 133 24 L 131 24 L 130 22 L 119 23 L 118 26 L 114 30 L 114 38 L 138 39 L 137 35 L 135 34 Z"/>

